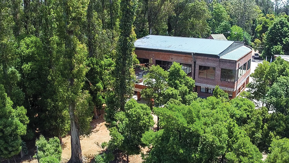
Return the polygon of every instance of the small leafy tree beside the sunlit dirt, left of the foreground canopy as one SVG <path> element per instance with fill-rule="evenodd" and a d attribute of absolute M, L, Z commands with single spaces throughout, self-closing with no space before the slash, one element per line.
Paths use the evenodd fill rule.
<path fill-rule="evenodd" d="M 128 155 L 138 154 L 141 142 L 141 135 L 150 130 L 154 125 L 150 108 L 145 104 L 138 104 L 134 99 L 129 100 L 125 110 L 116 114 L 117 125 L 110 128 L 108 148 L 119 148 L 126 151 Z"/>

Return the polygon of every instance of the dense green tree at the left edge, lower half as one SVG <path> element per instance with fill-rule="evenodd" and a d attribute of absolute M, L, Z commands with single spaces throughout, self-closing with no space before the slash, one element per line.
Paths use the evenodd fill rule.
<path fill-rule="evenodd" d="M 12 105 L 0 84 L 0 156 L 6 159 L 20 152 L 21 136 L 26 134 L 26 124 L 29 123 L 24 107 L 13 109 Z"/>

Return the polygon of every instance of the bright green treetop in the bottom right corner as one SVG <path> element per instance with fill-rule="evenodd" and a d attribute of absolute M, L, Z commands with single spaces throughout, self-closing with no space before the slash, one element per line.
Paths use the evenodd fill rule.
<path fill-rule="evenodd" d="M 289 139 L 274 139 L 270 145 L 266 163 L 285 163 L 289 159 Z"/>

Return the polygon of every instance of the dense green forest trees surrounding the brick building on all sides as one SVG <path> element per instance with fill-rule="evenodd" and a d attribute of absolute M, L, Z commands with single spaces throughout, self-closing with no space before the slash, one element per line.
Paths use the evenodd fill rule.
<path fill-rule="evenodd" d="M 89 136 L 92 117 L 106 104 L 110 151 L 128 156 L 147 145 L 145 162 L 234 163 L 259 162 L 265 151 L 266 161 L 286 162 L 289 64 L 281 58 L 258 65 L 247 98 L 229 101 L 217 86 L 214 97 L 198 99 L 194 80 L 174 62 L 169 72 L 149 67 L 149 87 L 141 92 L 148 106 L 129 100 L 136 38 L 224 34 L 270 59 L 288 51 L 289 4 L 280 2 L 2 0 L 0 157 L 9 161 L 23 140 L 40 133 L 59 138 L 38 139 L 41 162 L 59 162 L 57 144 L 71 130 L 71 162 L 81 162 L 79 135 Z M 159 119 L 157 132 L 151 130 L 151 113 Z M 108 162 L 111 156 L 95 160 Z"/>

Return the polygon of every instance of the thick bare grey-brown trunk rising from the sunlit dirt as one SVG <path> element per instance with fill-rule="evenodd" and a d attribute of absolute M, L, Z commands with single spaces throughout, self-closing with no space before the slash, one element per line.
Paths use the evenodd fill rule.
<path fill-rule="evenodd" d="M 82 163 L 82 152 L 79 139 L 79 130 L 74 115 L 75 101 L 69 104 L 70 130 L 71 130 L 71 157 L 67 163 Z"/>

